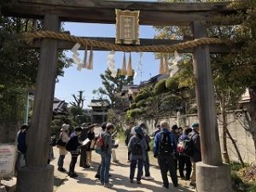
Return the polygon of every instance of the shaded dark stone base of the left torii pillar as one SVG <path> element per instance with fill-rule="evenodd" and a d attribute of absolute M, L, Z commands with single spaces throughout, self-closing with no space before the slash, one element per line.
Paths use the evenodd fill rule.
<path fill-rule="evenodd" d="M 52 192 L 54 166 L 21 168 L 17 172 L 17 192 Z"/>

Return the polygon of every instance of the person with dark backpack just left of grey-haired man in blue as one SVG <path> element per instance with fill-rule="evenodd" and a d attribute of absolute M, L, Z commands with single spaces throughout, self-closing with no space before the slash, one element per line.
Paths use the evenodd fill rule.
<path fill-rule="evenodd" d="M 135 135 L 131 137 L 128 143 L 130 154 L 130 183 L 133 183 L 135 169 L 137 166 L 137 183 L 140 184 L 143 176 L 143 164 L 146 160 L 146 150 L 148 145 L 146 143 L 143 129 L 140 126 L 135 127 Z"/>

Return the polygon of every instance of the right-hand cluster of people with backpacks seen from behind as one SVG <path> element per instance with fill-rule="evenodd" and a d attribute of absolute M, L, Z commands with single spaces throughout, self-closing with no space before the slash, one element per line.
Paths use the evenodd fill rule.
<path fill-rule="evenodd" d="M 163 187 L 169 188 L 167 173 L 170 173 L 174 187 L 177 183 L 177 169 L 183 180 L 190 180 L 189 185 L 195 187 L 195 163 L 201 161 L 201 145 L 200 145 L 200 126 L 194 123 L 192 128 L 186 127 L 183 131 L 177 125 L 170 125 L 165 121 L 155 125 L 153 153 L 157 158 L 160 166 L 160 174 L 163 180 Z M 177 150 L 178 143 L 184 141 L 192 143 L 193 153 L 185 154 Z M 135 125 L 131 122 L 125 130 L 125 144 L 128 146 L 128 161 L 130 162 L 130 182 L 133 183 L 134 172 L 137 167 L 137 183 L 141 183 L 141 179 L 154 179 L 149 172 L 148 151 L 150 137 L 148 137 L 147 126 L 142 123 Z M 140 146 L 139 146 L 140 145 Z M 184 147 L 184 146 L 183 146 Z M 143 167 L 145 175 L 143 176 Z M 185 174 L 184 174 L 185 167 Z"/>

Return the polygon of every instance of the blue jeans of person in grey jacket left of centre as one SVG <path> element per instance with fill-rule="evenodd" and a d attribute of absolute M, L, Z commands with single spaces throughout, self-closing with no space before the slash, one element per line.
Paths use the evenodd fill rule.
<path fill-rule="evenodd" d="M 102 167 L 101 167 L 101 182 L 109 183 L 109 167 L 110 167 L 111 154 L 102 154 Z"/>

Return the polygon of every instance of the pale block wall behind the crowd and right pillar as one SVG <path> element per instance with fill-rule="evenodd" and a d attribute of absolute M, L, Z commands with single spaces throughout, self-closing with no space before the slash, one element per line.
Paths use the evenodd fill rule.
<path fill-rule="evenodd" d="M 159 119 L 160 120 L 166 120 L 170 125 L 177 124 L 177 116 L 172 117 L 163 117 Z M 228 114 L 228 130 L 230 131 L 231 136 L 237 141 L 237 147 L 239 148 L 239 151 L 241 153 L 241 157 L 246 163 L 255 163 L 256 156 L 255 156 L 255 148 L 253 144 L 253 138 L 250 133 L 245 131 L 243 127 L 240 124 L 240 121 L 242 122 L 243 116 L 241 112 L 234 112 Z M 184 126 L 191 126 L 194 122 L 198 121 L 197 114 L 190 114 L 181 116 L 179 118 L 179 125 Z M 154 131 L 154 120 L 147 120 L 146 121 L 148 125 L 148 131 L 149 134 L 151 134 Z M 222 148 L 222 120 L 221 116 L 218 117 L 218 133 L 220 136 L 220 142 L 221 142 L 221 148 Z M 239 161 L 236 155 L 236 150 L 233 147 L 233 144 L 231 143 L 230 139 L 227 138 L 227 144 L 228 144 L 228 153 L 230 155 L 230 160 L 232 161 Z"/>

